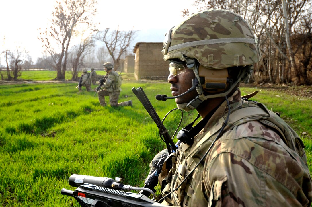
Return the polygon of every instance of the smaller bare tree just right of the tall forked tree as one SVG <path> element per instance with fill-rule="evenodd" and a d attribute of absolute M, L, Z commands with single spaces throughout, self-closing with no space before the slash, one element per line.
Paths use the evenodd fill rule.
<path fill-rule="evenodd" d="M 86 55 L 93 52 L 94 38 L 92 36 L 81 39 L 81 42 L 71 48 L 69 61 L 72 65 L 71 80 L 75 81 L 78 76 L 78 69 L 83 65 Z"/>

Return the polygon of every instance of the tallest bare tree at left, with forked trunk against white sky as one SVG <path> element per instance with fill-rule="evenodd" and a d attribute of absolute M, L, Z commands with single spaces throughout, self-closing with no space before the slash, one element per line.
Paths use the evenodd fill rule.
<path fill-rule="evenodd" d="M 56 79 L 65 79 L 68 48 L 74 29 L 81 24 L 86 28 L 93 26 L 91 17 L 96 13 L 95 4 L 96 0 L 56 0 L 51 26 L 40 32 L 43 47 L 53 59 Z"/>

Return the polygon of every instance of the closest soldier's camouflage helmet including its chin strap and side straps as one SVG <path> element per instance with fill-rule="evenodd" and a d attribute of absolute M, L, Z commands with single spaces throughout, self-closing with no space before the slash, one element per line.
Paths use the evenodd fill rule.
<path fill-rule="evenodd" d="M 251 65 L 260 60 L 257 44 L 258 41 L 245 20 L 227 10 L 211 9 L 199 12 L 172 27 L 163 42 L 163 59 L 185 61 L 200 83 L 196 88 L 199 94 L 196 100 L 183 106 L 178 105 L 178 108 L 185 109 L 187 105 L 188 110 L 194 109 L 208 98 L 226 96 L 240 81 L 248 82 Z M 196 62 L 199 64 L 195 64 Z M 240 71 L 236 82 L 228 84 L 227 69 L 232 67 Z M 211 74 L 222 74 L 220 85 L 226 87 L 207 95 L 209 89 L 205 88 L 206 78 L 212 79 L 209 77 Z M 205 77 L 204 83 L 200 76 Z M 219 78 L 216 77 L 215 80 Z M 215 80 L 212 79 L 208 85 L 214 84 Z M 207 92 L 206 95 L 203 94 L 204 91 Z"/>

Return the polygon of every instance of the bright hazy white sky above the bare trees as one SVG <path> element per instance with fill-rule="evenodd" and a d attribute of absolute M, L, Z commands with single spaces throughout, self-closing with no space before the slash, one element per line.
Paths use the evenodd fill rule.
<path fill-rule="evenodd" d="M 38 40 L 39 27 L 46 28 L 55 0 L 0 0 L 0 51 L 25 47 L 33 61 L 43 48 Z M 193 0 L 98 0 L 96 21 L 107 27 L 130 30 L 166 29 L 183 20 L 182 12 L 195 12 Z M 3 45 L 5 37 L 5 45 Z M 162 38 L 164 34 L 162 35 Z M 159 40 L 163 41 L 163 39 Z"/>

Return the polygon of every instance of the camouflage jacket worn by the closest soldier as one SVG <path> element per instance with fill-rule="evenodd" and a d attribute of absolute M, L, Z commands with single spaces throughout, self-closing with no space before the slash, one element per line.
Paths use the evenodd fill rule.
<path fill-rule="evenodd" d="M 288 147 L 283 141 L 285 138 L 281 138 L 284 136 L 269 127 L 273 124 L 264 118 L 265 114 L 269 114 L 268 110 L 253 107 L 257 104 L 243 100 L 240 90 L 234 92 L 229 101 L 231 115 L 221 137 L 186 183 L 174 191 L 174 199 L 166 199 L 168 203 L 163 201 L 163 204 L 191 207 L 311 206 L 311 177 L 300 138 L 297 136 L 295 143 L 288 143 L 293 147 Z M 253 117 L 237 118 L 242 116 L 241 108 L 247 108 L 245 112 L 249 109 L 261 109 L 262 112 Z M 179 146 L 176 173 L 173 172 L 171 184 L 168 184 L 171 190 L 181 183 L 208 151 L 227 113 L 225 102 L 194 137 L 192 146 L 183 143 Z M 232 122 L 237 119 L 239 123 Z M 295 152 L 290 148 L 299 150 L 295 149 Z M 167 192 L 171 190 L 167 189 Z"/>

